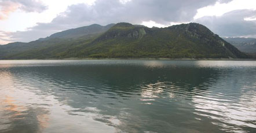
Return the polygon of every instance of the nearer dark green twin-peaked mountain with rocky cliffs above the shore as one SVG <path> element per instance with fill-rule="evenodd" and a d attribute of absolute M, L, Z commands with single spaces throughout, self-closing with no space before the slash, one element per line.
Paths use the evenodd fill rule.
<path fill-rule="evenodd" d="M 167 28 L 119 23 L 87 45 L 61 54 L 93 58 L 246 58 L 203 25 L 190 23 Z"/>

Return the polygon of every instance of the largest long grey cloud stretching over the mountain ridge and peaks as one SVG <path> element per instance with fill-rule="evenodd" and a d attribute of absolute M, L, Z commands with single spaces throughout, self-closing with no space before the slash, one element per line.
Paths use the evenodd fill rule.
<path fill-rule="evenodd" d="M 125 4 L 119 0 L 98 0 L 94 5 L 78 4 L 58 14 L 51 23 L 38 23 L 28 31 L 14 32 L 12 39 L 28 42 L 46 37 L 64 29 L 90 24 L 106 25 L 129 22 L 141 24 L 142 21 L 155 21 L 169 25 L 170 22 L 192 21 L 197 9 L 213 5 L 218 0 L 133 0 Z M 221 0 L 219 2 L 229 2 Z"/>

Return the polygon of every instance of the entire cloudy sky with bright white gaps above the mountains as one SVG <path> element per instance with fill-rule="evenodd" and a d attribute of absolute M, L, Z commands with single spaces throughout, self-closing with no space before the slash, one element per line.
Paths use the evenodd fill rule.
<path fill-rule="evenodd" d="M 0 0 L 0 45 L 91 24 L 200 23 L 222 37 L 256 38 L 255 0 Z"/>

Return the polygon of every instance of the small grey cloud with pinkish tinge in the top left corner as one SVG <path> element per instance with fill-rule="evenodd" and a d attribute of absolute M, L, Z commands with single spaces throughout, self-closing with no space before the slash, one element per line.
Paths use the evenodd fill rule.
<path fill-rule="evenodd" d="M 17 9 L 41 13 L 47 6 L 37 0 L 0 0 L 0 20 L 7 19 L 9 14 Z"/>

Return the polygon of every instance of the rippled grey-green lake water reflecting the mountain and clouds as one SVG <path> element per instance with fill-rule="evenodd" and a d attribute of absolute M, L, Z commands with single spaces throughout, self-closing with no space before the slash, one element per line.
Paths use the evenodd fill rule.
<path fill-rule="evenodd" d="M 256 61 L 0 61 L 0 132 L 256 132 Z"/>

